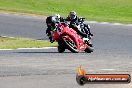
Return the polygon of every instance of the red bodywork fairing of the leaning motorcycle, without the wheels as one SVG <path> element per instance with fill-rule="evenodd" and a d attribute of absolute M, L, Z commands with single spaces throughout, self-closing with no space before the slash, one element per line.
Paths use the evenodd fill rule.
<path fill-rule="evenodd" d="M 57 25 L 57 30 L 51 32 L 51 34 L 52 38 L 57 42 L 59 39 L 66 39 L 69 42 L 75 41 L 76 48 L 79 52 L 84 51 L 86 48 L 88 48 L 88 45 L 84 44 L 83 40 L 75 30 L 63 25 L 62 23 L 59 23 Z"/>

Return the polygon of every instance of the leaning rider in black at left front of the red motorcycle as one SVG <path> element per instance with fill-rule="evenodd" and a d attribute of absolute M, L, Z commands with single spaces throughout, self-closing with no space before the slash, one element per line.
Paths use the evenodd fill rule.
<path fill-rule="evenodd" d="M 46 18 L 46 24 L 47 24 L 46 34 L 49 37 L 49 40 L 50 40 L 51 43 L 53 43 L 54 40 L 52 39 L 50 31 L 55 31 L 56 27 L 57 27 L 57 24 L 59 22 L 60 22 L 60 15 L 59 14 L 55 14 L 54 16 L 48 16 Z"/>

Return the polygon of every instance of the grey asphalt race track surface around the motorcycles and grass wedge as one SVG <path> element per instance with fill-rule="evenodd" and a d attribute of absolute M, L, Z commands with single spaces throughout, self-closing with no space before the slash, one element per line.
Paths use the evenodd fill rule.
<path fill-rule="evenodd" d="M 57 49 L 0 50 L 0 88 L 132 88 L 132 84 L 76 83 L 76 68 L 88 73 L 132 75 L 132 26 L 90 24 L 95 51 L 58 53 Z M 0 35 L 47 39 L 41 17 L 0 14 Z"/>

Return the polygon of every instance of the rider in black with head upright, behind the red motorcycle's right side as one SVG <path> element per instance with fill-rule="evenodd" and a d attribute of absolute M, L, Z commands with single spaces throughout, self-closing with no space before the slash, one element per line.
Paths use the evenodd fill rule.
<path fill-rule="evenodd" d="M 70 21 L 69 27 L 73 28 L 79 35 L 83 37 L 83 40 L 85 42 L 88 42 L 89 45 L 91 45 L 91 42 L 89 40 L 91 39 L 91 36 L 93 36 L 93 34 L 90 32 L 90 27 L 87 24 L 84 24 L 87 29 L 85 29 L 85 32 L 81 31 L 81 28 L 78 27 L 80 18 L 76 15 L 75 11 L 71 11 L 65 20 Z"/>

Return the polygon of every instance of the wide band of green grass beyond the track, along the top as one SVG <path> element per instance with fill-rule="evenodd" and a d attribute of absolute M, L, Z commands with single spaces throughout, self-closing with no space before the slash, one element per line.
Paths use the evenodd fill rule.
<path fill-rule="evenodd" d="M 0 0 L 0 10 L 46 16 L 75 10 L 88 20 L 132 23 L 132 0 Z"/>

